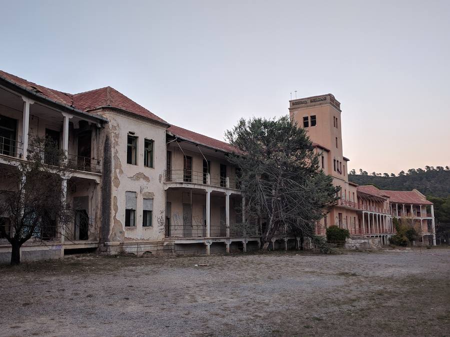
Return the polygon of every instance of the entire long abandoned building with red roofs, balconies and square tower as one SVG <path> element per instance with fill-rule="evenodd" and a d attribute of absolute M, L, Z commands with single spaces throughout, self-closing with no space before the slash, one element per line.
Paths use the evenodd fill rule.
<path fill-rule="evenodd" d="M 435 244 L 433 205 L 418 191 L 348 182 L 334 96 L 289 104 L 291 117 L 307 128 L 320 153 L 322 169 L 341 187 L 317 235 L 335 224 L 385 244 L 395 233 L 392 217 L 398 217 L 413 219 L 422 241 Z M 75 213 L 64 231 L 55 222 L 26 242 L 23 261 L 86 249 L 210 254 L 259 246 L 258 233 L 243 225 L 245 199 L 238 172 L 226 160 L 234 149 L 225 142 L 171 125 L 111 87 L 69 94 L 0 71 L 0 169 L 26 160 L 32 136 L 51 139 L 67 154 L 71 178 L 61 186 Z M 9 230 L 4 215 L 0 221 Z M 272 244 L 287 248 L 298 241 L 280 233 Z M 0 237 L 0 262 L 9 258 L 10 245 Z"/>

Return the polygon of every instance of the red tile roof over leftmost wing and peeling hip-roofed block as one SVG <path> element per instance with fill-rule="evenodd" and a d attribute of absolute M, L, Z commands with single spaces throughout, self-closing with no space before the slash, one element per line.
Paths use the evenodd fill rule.
<path fill-rule="evenodd" d="M 77 94 L 69 94 L 66 92 L 46 88 L 44 86 L 27 81 L 26 79 L 17 77 L 1 70 L 0 77 L 12 81 L 18 86 L 34 91 L 36 94 L 40 94 L 53 101 L 74 107 L 75 109 L 81 111 L 87 112 L 95 108 L 107 106 L 125 110 L 131 114 L 167 124 L 167 122 L 162 118 L 156 116 L 152 112 L 145 109 L 143 106 L 137 104 L 136 102 L 121 94 L 114 88 L 111 88 L 110 86 L 100 89 L 94 89 L 91 91 L 80 92 Z"/>

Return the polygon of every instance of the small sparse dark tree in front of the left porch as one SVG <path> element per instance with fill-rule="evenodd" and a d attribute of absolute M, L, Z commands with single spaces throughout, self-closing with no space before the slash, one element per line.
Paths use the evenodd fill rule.
<path fill-rule="evenodd" d="M 17 265 L 26 241 L 52 240 L 73 218 L 61 193 L 70 170 L 64 151 L 37 137 L 30 139 L 27 160 L 8 164 L 0 170 L 0 235 Z"/>

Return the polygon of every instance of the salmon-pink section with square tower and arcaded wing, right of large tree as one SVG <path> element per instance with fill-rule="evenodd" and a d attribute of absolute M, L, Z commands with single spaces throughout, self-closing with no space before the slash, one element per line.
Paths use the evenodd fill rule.
<path fill-rule="evenodd" d="M 395 233 L 392 218 L 408 221 L 420 233 L 423 244 L 436 244 L 433 204 L 419 191 L 381 191 L 348 181 L 348 158 L 342 152 L 340 102 L 332 94 L 289 101 L 289 114 L 307 130 L 321 157 L 321 168 L 340 187 L 337 205 L 317 224 L 316 234 L 327 227 L 346 228 L 353 238 L 377 238 L 387 244 Z"/>

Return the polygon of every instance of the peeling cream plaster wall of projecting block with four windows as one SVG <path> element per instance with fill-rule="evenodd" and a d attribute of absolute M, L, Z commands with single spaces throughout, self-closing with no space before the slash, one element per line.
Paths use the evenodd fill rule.
<path fill-rule="evenodd" d="M 166 129 L 112 110 L 101 110 L 99 113 L 109 120 L 106 128 L 111 149 L 111 174 L 109 175 L 111 215 L 108 233 L 104 235 L 105 241 L 162 240 L 165 219 L 162 176 L 166 165 Z M 126 163 L 127 135 L 130 131 L 137 137 L 137 165 Z M 154 141 L 154 168 L 145 167 L 143 164 L 144 139 Z M 125 228 L 125 192 L 127 191 L 135 192 L 137 196 L 136 226 Z M 142 227 L 144 197 L 153 197 L 151 227 Z"/>

